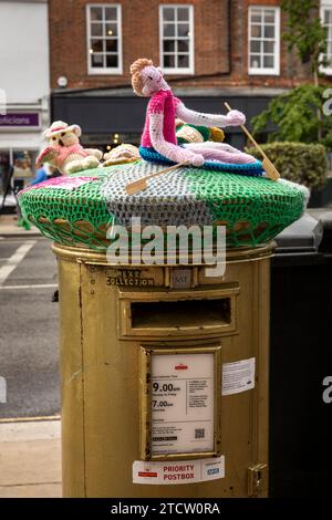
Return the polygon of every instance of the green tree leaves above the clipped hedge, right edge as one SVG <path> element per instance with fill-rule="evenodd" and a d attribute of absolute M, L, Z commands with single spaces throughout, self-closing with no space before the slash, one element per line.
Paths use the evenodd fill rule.
<path fill-rule="evenodd" d="M 268 132 L 268 142 L 321 143 L 332 149 L 332 116 L 323 113 L 324 89 L 320 87 L 320 66 L 326 64 L 326 30 L 320 18 L 319 0 L 282 0 L 287 13 L 283 39 L 288 50 L 297 49 L 302 63 L 310 62 L 314 84 L 304 84 L 272 100 L 268 108 L 251 121 L 255 134 Z M 270 132 L 271 129 L 271 132 Z"/>

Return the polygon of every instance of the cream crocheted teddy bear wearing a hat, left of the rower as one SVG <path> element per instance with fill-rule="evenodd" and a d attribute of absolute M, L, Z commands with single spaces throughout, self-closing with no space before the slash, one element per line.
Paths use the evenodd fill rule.
<path fill-rule="evenodd" d="M 52 123 L 44 134 L 49 145 L 37 158 L 37 166 L 50 163 L 64 175 L 97 167 L 103 154 L 95 148 L 83 148 L 81 134 L 79 125 L 69 126 L 63 121 Z"/>

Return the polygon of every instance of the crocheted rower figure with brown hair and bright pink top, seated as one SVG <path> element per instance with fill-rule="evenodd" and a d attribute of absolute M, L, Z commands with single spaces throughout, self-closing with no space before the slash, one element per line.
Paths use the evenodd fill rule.
<path fill-rule="evenodd" d="M 239 165 L 256 163 L 251 155 L 226 143 L 203 141 L 179 145 L 176 138 L 176 117 L 190 125 L 226 127 L 243 125 L 246 117 L 241 112 L 230 111 L 227 115 L 218 115 L 187 108 L 174 96 L 162 70 L 145 58 L 131 65 L 131 73 L 134 92 L 151 97 L 139 148 L 143 158 L 148 159 L 151 152 L 157 152 L 162 158 L 174 163 L 187 162 L 193 166 L 201 166 L 206 160 Z"/>

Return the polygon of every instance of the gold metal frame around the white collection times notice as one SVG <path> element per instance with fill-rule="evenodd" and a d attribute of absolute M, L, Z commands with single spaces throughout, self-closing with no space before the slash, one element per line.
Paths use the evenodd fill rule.
<path fill-rule="evenodd" d="M 212 451 L 181 453 L 169 455 L 152 454 L 152 356 L 154 354 L 214 354 L 214 429 L 215 448 Z M 141 347 L 141 428 L 139 445 L 142 460 L 188 460 L 208 457 L 219 457 L 221 454 L 221 346 L 205 345 L 197 347 L 163 349 L 160 346 Z"/>

